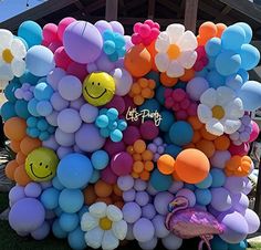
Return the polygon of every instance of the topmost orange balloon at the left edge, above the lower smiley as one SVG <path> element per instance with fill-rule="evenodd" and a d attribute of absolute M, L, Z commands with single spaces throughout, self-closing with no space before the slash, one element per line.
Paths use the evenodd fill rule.
<path fill-rule="evenodd" d="M 27 123 L 19 117 L 8 119 L 3 125 L 3 132 L 9 139 L 21 140 L 27 135 Z"/>

